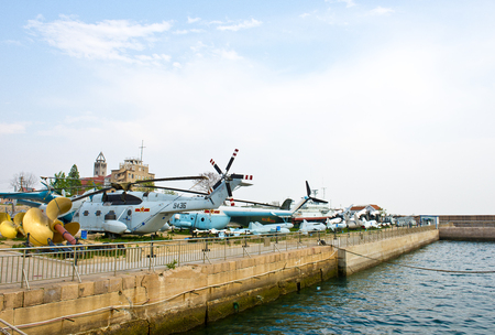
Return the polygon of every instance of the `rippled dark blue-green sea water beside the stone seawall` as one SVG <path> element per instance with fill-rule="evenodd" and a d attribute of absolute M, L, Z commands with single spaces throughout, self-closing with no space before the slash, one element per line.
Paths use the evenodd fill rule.
<path fill-rule="evenodd" d="M 495 334 L 494 242 L 438 241 L 188 334 Z"/>

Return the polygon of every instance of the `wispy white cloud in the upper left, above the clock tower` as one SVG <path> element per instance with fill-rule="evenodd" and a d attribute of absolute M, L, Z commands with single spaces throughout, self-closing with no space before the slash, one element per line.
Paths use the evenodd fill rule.
<path fill-rule="evenodd" d="M 166 21 L 139 24 L 128 20 L 105 20 L 94 24 L 65 15 L 53 22 L 44 22 L 38 17 L 25 25 L 70 56 L 130 63 L 134 62 L 129 56 L 130 51 L 145 50 L 155 34 L 168 31 L 170 26 Z"/>

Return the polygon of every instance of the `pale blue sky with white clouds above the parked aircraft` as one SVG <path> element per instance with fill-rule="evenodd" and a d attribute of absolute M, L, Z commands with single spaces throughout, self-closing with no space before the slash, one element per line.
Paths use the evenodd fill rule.
<path fill-rule="evenodd" d="M 144 143 L 156 177 L 239 149 L 242 199 L 495 214 L 494 1 L 0 7 L 1 192 Z"/>

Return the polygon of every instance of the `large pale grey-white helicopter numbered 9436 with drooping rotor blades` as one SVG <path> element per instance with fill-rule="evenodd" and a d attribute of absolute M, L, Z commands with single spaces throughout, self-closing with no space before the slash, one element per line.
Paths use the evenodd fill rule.
<path fill-rule="evenodd" d="M 184 196 L 162 194 L 155 192 L 130 192 L 133 184 L 157 181 L 176 181 L 206 179 L 205 176 L 169 177 L 158 180 L 144 180 L 134 183 L 112 184 L 111 187 L 99 190 L 89 195 L 76 197 L 73 202 L 89 197 L 74 214 L 74 221 L 79 223 L 81 230 L 88 233 L 107 233 L 109 235 L 150 234 L 156 233 L 179 212 L 213 209 L 232 196 L 232 191 L 240 186 L 250 186 L 244 179 L 252 180 L 251 175 L 228 174 L 239 150 L 232 154 L 226 172 L 211 160 L 215 169 L 221 175 L 210 194 L 201 196 Z M 166 188 L 162 186 L 146 186 Z M 114 193 L 107 193 L 117 188 Z"/>

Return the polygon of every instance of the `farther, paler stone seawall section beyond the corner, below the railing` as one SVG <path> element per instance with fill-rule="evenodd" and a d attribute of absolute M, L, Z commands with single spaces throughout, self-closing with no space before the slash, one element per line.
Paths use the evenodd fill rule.
<path fill-rule="evenodd" d="M 419 249 L 438 239 L 438 230 L 427 230 L 339 249 L 339 275 L 351 275 L 403 253 Z"/>

